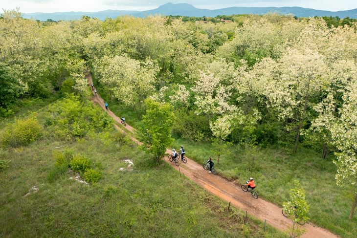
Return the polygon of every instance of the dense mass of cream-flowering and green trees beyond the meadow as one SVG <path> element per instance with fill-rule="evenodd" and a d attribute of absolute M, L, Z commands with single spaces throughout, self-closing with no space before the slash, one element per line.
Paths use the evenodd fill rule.
<path fill-rule="evenodd" d="M 337 184 L 348 183 L 354 197 L 352 219 L 357 204 L 356 23 L 276 14 L 233 20 L 127 16 L 36 22 L 5 11 L 0 19 L 1 114 L 11 114 L 25 96 L 47 97 L 55 90 L 86 94 L 86 63 L 112 104 L 134 110 L 138 119 L 149 109 L 143 120 L 149 129 L 165 123 L 148 116 L 158 115 L 153 109 L 164 105 L 162 116 L 174 120 L 167 128 L 177 122 L 175 136 L 213 140 L 217 155 L 227 143 L 252 151 L 274 145 L 295 153 L 302 144 L 321 151 L 323 158 L 334 152 Z M 46 128 L 60 138 L 81 138 L 109 123 L 95 110 L 77 116 L 83 103 L 75 97 L 50 108 Z M 145 108 L 148 98 L 156 102 Z M 170 141 L 169 130 L 162 131 Z"/>

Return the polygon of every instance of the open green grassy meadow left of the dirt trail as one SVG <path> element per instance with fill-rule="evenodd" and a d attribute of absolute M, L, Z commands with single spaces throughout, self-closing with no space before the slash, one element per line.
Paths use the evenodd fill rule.
<path fill-rule="evenodd" d="M 0 129 L 2 130 L 2 129 Z M 102 174 L 97 184 L 55 167 L 54 151 L 88 157 Z M 43 138 L 4 148 L 9 168 L 0 172 L 0 237 L 286 237 L 206 193 L 166 163 L 157 166 L 133 143 L 106 133 L 72 142 Z M 124 159 L 131 159 L 134 168 Z M 37 186 L 39 191 L 24 196 Z M 248 229 L 249 227 L 249 229 Z"/>

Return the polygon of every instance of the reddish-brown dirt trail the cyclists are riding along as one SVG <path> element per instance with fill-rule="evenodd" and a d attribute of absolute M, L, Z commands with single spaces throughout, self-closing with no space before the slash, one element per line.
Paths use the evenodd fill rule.
<path fill-rule="evenodd" d="M 88 74 L 86 78 L 88 79 L 89 84 L 92 84 L 91 74 Z M 98 103 L 105 110 L 104 101 L 99 94 L 94 96 L 92 100 Z M 108 113 L 116 122 L 121 122 L 121 119 L 117 117 L 110 109 L 108 109 Z M 124 131 L 116 125 L 115 128 L 117 130 Z M 134 128 L 128 124 L 126 129 L 134 132 Z M 135 138 L 133 138 L 133 140 L 139 145 L 142 144 Z M 166 152 L 171 153 L 170 150 L 166 150 Z M 243 192 L 240 188 L 240 185 L 228 181 L 219 175 L 208 173 L 207 171 L 203 170 L 201 164 L 198 164 L 189 158 L 187 158 L 187 164 L 180 163 L 179 167 L 174 165 L 174 163 L 169 162 L 167 157 L 165 158 L 165 161 L 171 164 L 177 171 L 179 171 L 180 168 L 181 173 L 195 181 L 205 190 L 216 196 L 219 196 L 227 202 L 231 202 L 231 205 L 247 211 L 248 214 L 257 217 L 262 221 L 266 219 L 269 225 L 279 230 L 286 231 L 288 225 L 291 224 L 290 219 L 284 217 L 281 214 L 280 207 L 261 198 L 254 199 L 250 193 Z M 327 231 L 326 229 L 317 227 L 312 223 L 307 223 L 305 225 L 305 229 L 306 233 L 302 236 L 302 238 L 338 238 L 337 235 Z"/>

